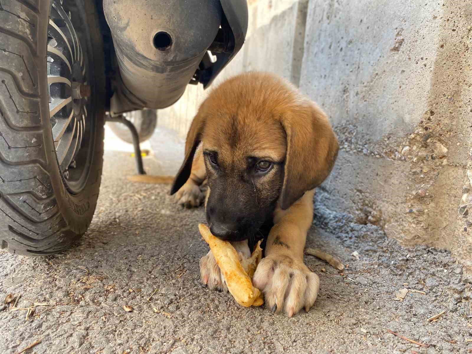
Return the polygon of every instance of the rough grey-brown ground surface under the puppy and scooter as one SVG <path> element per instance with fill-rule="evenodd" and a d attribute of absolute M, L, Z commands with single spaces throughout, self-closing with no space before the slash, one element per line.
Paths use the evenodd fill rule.
<path fill-rule="evenodd" d="M 169 145 L 182 149 L 177 140 Z M 150 174 L 163 173 L 165 151 L 156 146 L 144 160 Z M 337 256 L 345 271 L 305 256 L 321 283 L 308 313 L 287 318 L 246 309 L 200 283 L 198 261 L 208 251 L 197 227 L 203 209 L 175 205 L 168 185 L 127 181 L 135 173 L 129 152 L 107 151 L 104 160 L 95 217 L 70 251 L 41 258 L 0 253 L 0 353 L 39 339 L 26 353 L 472 351 L 472 279 L 449 252 L 403 248 L 369 220 L 329 210 L 330 197 L 320 189 L 307 245 Z M 175 173 L 179 162 L 165 163 L 165 173 Z M 409 291 L 395 300 L 403 288 L 425 294 Z M 16 300 L 3 305 L 10 293 L 20 310 L 12 311 Z M 426 320 L 441 311 L 438 320 Z"/>

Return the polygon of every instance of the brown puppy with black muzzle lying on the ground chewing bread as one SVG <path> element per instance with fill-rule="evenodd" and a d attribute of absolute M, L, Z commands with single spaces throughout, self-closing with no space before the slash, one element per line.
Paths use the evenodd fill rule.
<path fill-rule="evenodd" d="M 248 257 L 248 239 L 267 239 L 254 286 L 272 311 L 289 316 L 316 300 L 319 278 L 303 263 L 313 219 L 314 188 L 328 177 L 338 143 L 327 116 L 295 87 L 268 73 L 246 73 L 214 89 L 185 142 L 172 186 L 186 206 L 203 201 L 213 235 Z M 269 226 L 269 235 L 261 235 Z M 202 281 L 226 285 L 211 252 L 200 261 Z"/>

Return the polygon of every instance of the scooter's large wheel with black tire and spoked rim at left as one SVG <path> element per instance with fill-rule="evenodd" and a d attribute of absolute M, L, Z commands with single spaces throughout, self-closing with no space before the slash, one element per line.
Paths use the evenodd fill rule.
<path fill-rule="evenodd" d="M 101 182 L 99 18 L 87 0 L 0 8 L 0 248 L 58 253 L 87 230 Z"/>

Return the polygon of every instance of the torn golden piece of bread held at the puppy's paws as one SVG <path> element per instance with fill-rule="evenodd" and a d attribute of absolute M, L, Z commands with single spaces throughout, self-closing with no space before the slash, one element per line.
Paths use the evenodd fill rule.
<path fill-rule="evenodd" d="M 261 241 L 254 248 L 251 258 L 240 262 L 236 250 L 228 241 L 222 241 L 213 236 L 210 229 L 204 224 L 198 224 L 198 228 L 203 239 L 210 246 L 211 253 L 225 277 L 228 290 L 236 302 L 244 307 L 261 306 L 264 303 L 261 291 L 253 287 L 250 278 L 254 275 L 262 257 Z"/>

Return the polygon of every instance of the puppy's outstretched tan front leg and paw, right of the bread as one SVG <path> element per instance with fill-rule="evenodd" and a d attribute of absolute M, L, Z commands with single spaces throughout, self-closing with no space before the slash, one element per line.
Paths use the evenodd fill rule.
<path fill-rule="evenodd" d="M 314 189 L 287 210 L 276 209 L 266 256 L 253 278 L 272 312 L 285 311 L 289 317 L 302 307 L 308 311 L 320 288 L 318 276 L 303 263 L 306 234 L 313 220 L 313 195 Z"/>

